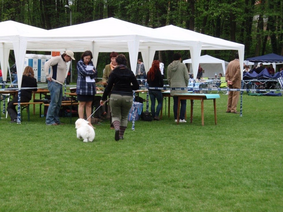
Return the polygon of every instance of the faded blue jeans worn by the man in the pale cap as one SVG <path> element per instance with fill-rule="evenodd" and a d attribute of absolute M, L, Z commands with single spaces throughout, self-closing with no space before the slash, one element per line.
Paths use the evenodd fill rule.
<path fill-rule="evenodd" d="M 51 102 L 47 110 L 46 124 L 47 125 L 52 125 L 54 123 L 60 124 L 59 111 L 63 97 L 62 85 L 57 82 L 48 81 L 47 87 L 50 92 Z"/>

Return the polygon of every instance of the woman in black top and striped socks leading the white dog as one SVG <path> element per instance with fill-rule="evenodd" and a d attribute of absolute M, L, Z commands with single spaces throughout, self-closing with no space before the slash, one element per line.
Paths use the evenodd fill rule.
<path fill-rule="evenodd" d="M 139 89 L 135 74 L 127 68 L 127 59 L 124 54 L 116 57 L 117 66 L 108 78 L 100 105 L 107 100 L 109 92 L 112 122 L 115 128 L 115 140 L 124 139 L 124 132 L 128 125 L 128 115 L 133 104 L 133 90 Z"/>

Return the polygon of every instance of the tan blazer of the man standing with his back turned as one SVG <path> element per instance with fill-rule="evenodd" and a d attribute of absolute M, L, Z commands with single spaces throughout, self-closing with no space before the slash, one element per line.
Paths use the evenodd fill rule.
<path fill-rule="evenodd" d="M 241 88 L 241 68 L 240 61 L 238 59 L 234 59 L 229 62 L 225 72 L 225 80 L 232 81 L 233 85 L 231 87 Z"/>

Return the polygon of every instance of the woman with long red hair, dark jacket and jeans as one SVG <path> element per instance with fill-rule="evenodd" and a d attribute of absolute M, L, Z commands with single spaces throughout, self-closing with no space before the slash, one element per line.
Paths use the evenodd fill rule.
<path fill-rule="evenodd" d="M 163 77 L 161 75 L 160 69 L 159 69 L 159 61 L 154 60 L 152 62 L 152 66 L 147 72 L 147 83 L 149 87 L 154 87 L 153 89 L 148 89 L 150 101 L 151 101 L 151 114 L 153 117 L 153 120 L 160 120 L 159 119 L 159 112 L 162 107 L 162 93 L 161 90 L 157 89 L 157 87 L 163 87 Z M 163 89 L 162 89 L 163 90 Z M 155 110 L 155 99 L 157 100 L 157 107 Z"/>

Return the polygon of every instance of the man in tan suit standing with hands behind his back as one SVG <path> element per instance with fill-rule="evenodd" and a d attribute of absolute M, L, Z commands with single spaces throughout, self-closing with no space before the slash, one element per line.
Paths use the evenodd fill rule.
<path fill-rule="evenodd" d="M 228 64 L 225 72 L 225 80 L 230 89 L 241 88 L 241 68 L 238 52 L 235 54 L 235 59 Z M 226 112 L 240 113 L 237 111 L 239 95 L 240 91 L 229 91 Z"/>

